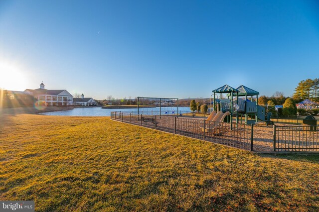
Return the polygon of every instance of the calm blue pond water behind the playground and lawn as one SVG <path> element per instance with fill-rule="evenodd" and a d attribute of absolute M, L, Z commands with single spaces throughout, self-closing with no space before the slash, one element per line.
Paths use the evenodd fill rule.
<path fill-rule="evenodd" d="M 102 109 L 101 107 L 78 107 L 70 110 L 61 110 L 53 112 L 42 112 L 43 115 L 70 115 L 70 116 L 111 116 L 111 111 L 132 112 L 136 114 L 137 108 L 130 109 Z M 140 108 L 139 112 L 148 115 L 176 114 L 177 107 L 152 107 Z M 178 113 L 190 112 L 189 107 L 178 107 Z"/>

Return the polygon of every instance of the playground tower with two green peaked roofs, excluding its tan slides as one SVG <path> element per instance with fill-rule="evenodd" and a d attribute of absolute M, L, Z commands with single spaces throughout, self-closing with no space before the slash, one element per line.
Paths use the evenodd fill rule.
<path fill-rule="evenodd" d="M 243 123 L 243 116 L 245 117 L 246 124 L 254 124 L 258 119 L 265 121 L 265 108 L 258 105 L 259 92 L 243 85 L 236 89 L 224 85 L 212 92 L 213 94 L 210 96 L 210 108 L 216 109 L 217 112 L 230 112 L 230 117 L 227 118 L 227 122 L 232 123 L 232 117 L 236 115 L 236 123 L 239 123 L 239 114 L 241 119 L 240 123 Z M 220 99 L 216 98 L 216 96 L 218 97 L 217 94 L 220 94 Z M 227 99 L 223 99 L 222 94 L 226 94 Z M 245 98 L 242 99 L 240 97 Z M 253 101 L 254 97 L 256 101 Z M 254 119 L 248 120 L 248 116 Z"/>

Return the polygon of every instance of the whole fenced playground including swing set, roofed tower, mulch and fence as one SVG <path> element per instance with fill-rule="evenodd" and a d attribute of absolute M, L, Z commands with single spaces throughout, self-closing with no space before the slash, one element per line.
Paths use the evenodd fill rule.
<path fill-rule="evenodd" d="M 177 98 L 145 97 L 138 97 L 138 113 L 112 111 L 111 119 L 249 151 L 319 152 L 319 119 L 315 120 L 317 125 L 298 126 L 291 124 L 301 124 L 304 117 L 291 119 L 277 115 L 274 118 L 267 113 L 265 118 L 265 108 L 258 106 L 259 92 L 243 85 L 236 89 L 224 85 L 212 92 L 210 109 L 214 110 L 207 119 L 181 116 Z M 224 98 L 223 94 L 226 94 Z M 149 107 L 151 112 L 143 111 L 142 106 Z M 266 125 L 278 124 L 255 125 L 258 120 L 265 121 Z"/>

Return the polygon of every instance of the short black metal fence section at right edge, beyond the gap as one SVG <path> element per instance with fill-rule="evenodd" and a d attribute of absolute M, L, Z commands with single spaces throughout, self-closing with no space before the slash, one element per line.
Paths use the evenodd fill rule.
<path fill-rule="evenodd" d="M 319 151 L 319 125 L 276 126 L 273 130 L 274 151 Z"/>

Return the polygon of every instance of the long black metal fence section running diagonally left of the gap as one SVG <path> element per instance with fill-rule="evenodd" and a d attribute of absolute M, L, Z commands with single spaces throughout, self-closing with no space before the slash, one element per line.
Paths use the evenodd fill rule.
<path fill-rule="evenodd" d="M 111 119 L 227 146 L 253 150 L 253 125 L 206 121 L 170 115 L 111 112 Z"/>

